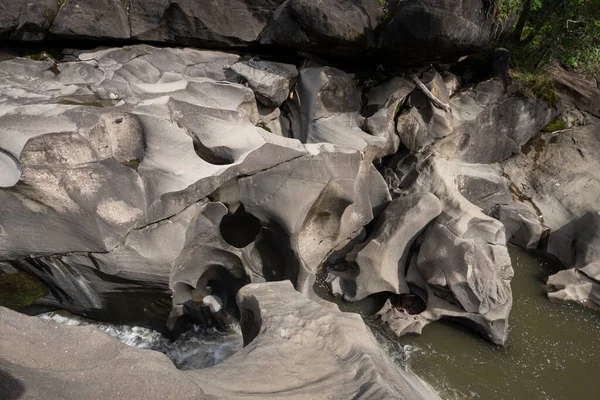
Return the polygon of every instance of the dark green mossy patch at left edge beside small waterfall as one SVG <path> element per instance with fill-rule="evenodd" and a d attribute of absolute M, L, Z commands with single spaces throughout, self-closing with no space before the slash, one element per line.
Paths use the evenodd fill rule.
<path fill-rule="evenodd" d="M 24 273 L 0 275 L 0 306 L 18 310 L 48 293 L 38 279 Z"/>

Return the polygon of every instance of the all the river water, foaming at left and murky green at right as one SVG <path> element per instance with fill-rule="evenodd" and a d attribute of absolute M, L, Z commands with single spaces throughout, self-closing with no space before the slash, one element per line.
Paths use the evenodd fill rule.
<path fill-rule="evenodd" d="M 544 283 L 560 269 L 555 260 L 511 246 L 515 270 L 509 340 L 495 346 L 460 325 L 436 322 L 421 336 L 399 343 L 374 330 L 398 365 L 422 377 L 443 399 L 598 399 L 600 313 L 577 304 L 552 303 Z M 316 285 L 321 286 L 321 285 Z M 336 301 L 326 291 L 317 291 Z M 385 298 L 340 304 L 342 310 L 373 314 Z M 87 321 L 64 313 L 42 318 L 70 325 L 93 325 L 122 342 L 166 354 L 181 369 L 218 364 L 242 348 L 239 326 L 227 333 L 194 327 L 172 342 L 158 332 Z"/>

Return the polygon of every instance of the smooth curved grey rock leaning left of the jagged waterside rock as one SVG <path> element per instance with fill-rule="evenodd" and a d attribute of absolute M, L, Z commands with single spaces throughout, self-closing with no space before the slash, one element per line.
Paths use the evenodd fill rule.
<path fill-rule="evenodd" d="M 440 202 L 431 193 L 393 200 L 377 219 L 371 236 L 346 256 L 359 272 L 353 281 L 342 279 L 344 300 L 358 301 L 380 292 L 408 293 L 404 275 L 411 245 L 440 213 Z"/>

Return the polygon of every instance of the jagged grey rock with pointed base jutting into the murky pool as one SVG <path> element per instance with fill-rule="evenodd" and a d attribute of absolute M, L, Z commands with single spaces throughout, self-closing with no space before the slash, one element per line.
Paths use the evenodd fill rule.
<path fill-rule="evenodd" d="M 388 301 L 376 318 L 384 328 L 401 336 L 420 333 L 429 322 L 450 317 L 503 344 L 512 306 L 513 276 L 504 227 L 465 198 L 465 194 L 478 197 L 481 186 L 473 182 L 485 181 L 487 176 L 487 182 L 502 184 L 502 178 L 496 179 L 490 172 L 475 174 L 473 166 L 434 156 L 404 162 L 402 168 L 400 192 L 429 192 L 441 203 L 441 214 L 419 239 L 420 246 L 406 272 L 406 282 L 426 307 L 411 315 Z"/>

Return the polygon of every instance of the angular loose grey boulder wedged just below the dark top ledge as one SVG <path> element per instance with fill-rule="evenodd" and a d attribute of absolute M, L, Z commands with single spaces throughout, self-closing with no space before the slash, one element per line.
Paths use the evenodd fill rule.
<path fill-rule="evenodd" d="M 298 70 L 290 64 L 269 61 L 235 63 L 231 69 L 242 77 L 266 106 L 279 107 L 287 100 Z"/>

